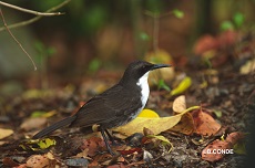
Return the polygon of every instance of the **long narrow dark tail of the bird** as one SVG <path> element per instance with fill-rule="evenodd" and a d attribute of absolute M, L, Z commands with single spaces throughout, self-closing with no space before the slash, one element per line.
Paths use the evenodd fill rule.
<path fill-rule="evenodd" d="M 53 125 L 42 129 L 41 132 L 39 132 L 38 134 L 35 134 L 33 136 L 33 139 L 38 139 L 38 138 L 42 138 L 44 137 L 45 135 L 61 128 L 61 127 L 64 127 L 67 125 L 70 125 L 76 117 L 75 116 L 70 116 L 70 117 L 67 117 L 64 118 L 63 120 L 60 120 L 60 122 L 57 122 L 54 123 Z"/>

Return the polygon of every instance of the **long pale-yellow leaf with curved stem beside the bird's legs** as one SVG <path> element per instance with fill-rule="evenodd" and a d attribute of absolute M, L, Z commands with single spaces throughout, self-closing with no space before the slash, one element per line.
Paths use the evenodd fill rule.
<path fill-rule="evenodd" d="M 134 133 L 143 133 L 143 128 L 146 127 L 150 130 L 152 130 L 155 135 L 157 135 L 175 126 L 181 120 L 183 114 L 197 108 L 200 108 L 200 106 L 193 106 L 175 116 L 170 116 L 170 117 L 160 117 L 160 118 L 136 117 L 135 119 L 128 123 L 126 125 L 113 128 L 113 130 L 120 132 L 125 136 L 131 136 Z"/>

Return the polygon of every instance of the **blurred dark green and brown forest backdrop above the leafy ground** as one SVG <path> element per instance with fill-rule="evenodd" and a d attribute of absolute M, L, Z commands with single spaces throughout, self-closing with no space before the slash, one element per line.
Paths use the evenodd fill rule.
<path fill-rule="evenodd" d="M 22 8 L 47 11 L 63 0 L 8 0 Z M 34 15 L 1 7 L 10 25 Z M 203 34 L 225 30 L 253 31 L 254 0 L 72 0 L 57 10 L 63 15 L 11 29 L 30 53 L 38 72 L 19 45 L 0 32 L 0 81 L 47 74 L 70 82 L 98 70 L 124 67 L 155 46 L 173 60 L 192 54 Z M 0 21 L 3 27 L 3 22 Z M 155 30 L 159 30 L 155 33 Z"/>

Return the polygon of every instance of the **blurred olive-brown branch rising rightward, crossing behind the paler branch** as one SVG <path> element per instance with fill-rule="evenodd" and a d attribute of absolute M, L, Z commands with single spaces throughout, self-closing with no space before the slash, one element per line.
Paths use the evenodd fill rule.
<path fill-rule="evenodd" d="M 55 11 L 60 8 L 62 8 L 63 6 L 65 6 L 67 3 L 69 3 L 71 0 L 65 0 L 63 1 L 62 3 L 60 3 L 59 6 L 55 6 L 55 7 L 52 7 L 51 9 L 47 10 L 45 12 L 52 12 L 52 11 Z M 35 21 L 38 21 L 39 19 L 41 19 L 43 15 L 38 15 L 38 17 L 34 17 L 30 20 L 27 20 L 27 21 L 22 21 L 22 22 L 19 22 L 19 23 L 14 23 L 14 24 L 10 24 L 8 25 L 9 29 L 13 29 L 13 28 L 19 28 L 19 27 L 24 27 L 24 25 L 28 25 L 28 24 L 31 24 Z M 1 27 L 0 28 L 0 32 L 1 31 L 4 31 L 7 30 L 6 27 Z"/>

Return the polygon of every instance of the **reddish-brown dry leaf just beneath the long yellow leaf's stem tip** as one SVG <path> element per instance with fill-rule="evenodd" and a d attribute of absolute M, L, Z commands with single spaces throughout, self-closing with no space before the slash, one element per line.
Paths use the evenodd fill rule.
<path fill-rule="evenodd" d="M 220 130 L 221 125 L 202 109 L 192 113 L 195 124 L 195 133 L 203 136 L 211 136 Z"/>

